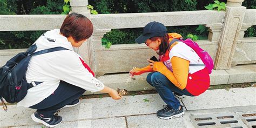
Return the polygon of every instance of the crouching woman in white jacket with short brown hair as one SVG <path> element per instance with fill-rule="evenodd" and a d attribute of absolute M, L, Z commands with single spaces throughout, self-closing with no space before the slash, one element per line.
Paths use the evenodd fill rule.
<path fill-rule="evenodd" d="M 26 72 L 28 83 L 35 85 L 17 106 L 37 109 L 31 115 L 35 122 L 57 126 L 62 117 L 54 113 L 62 107 L 79 104 L 79 97 L 88 90 L 105 92 L 113 99 L 120 99 L 116 90 L 104 86 L 84 60 L 73 51 L 81 46 L 93 32 L 91 21 L 81 14 L 68 15 L 60 30 L 45 32 L 37 39 L 37 50 L 61 46 L 68 50 L 33 56 Z"/>

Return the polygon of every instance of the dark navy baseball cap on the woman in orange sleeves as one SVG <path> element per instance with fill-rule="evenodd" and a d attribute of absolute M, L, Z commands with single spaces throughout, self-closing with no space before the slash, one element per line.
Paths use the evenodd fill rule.
<path fill-rule="evenodd" d="M 135 39 L 136 43 L 145 43 L 147 39 L 151 37 L 162 37 L 166 35 L 166 27 L 164 24 L 159 22 L 150 22 L 143 28 L 143 33 L 137 39 Z"/>

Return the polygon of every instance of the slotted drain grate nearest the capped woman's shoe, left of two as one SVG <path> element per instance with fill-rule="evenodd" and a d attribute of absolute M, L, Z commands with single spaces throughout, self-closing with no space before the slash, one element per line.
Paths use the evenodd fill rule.
<path fill-rule="evenodd" d="M 247 127 L 235 113 L 191 115 L 194 127 Z"/>

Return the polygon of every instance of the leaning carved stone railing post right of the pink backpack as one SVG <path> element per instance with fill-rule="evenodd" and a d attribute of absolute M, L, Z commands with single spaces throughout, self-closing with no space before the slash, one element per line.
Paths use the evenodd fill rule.
<path fill-rule="evenodd" d="M 241 6 L 243 1 L 227 0 L 225 22 L 221 30 L 214 69 L 224 70 L 231 68 L 235 47 L 245 16 L 246 8 Z"/>

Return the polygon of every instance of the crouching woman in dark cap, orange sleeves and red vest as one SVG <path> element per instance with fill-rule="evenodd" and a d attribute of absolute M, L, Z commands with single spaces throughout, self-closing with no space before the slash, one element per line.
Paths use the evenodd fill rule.
<path fill-rule="evenodd" d="M 135 41 L 145 43 L 149 48 L 157 51 L 159 62 L 148 59 L 145 68 L 130 71 L 131 75 L 147 75 L 147 83 L 156 87 L 160 97 L 167 105 L 157 111 L 161 119 L 184 116 L 183 107 L 172 92 L 186 96 L 198 96 L 210 86 L 208 71 L 197 53 L 179 40 L 178 33 L 166 33 L 166 27 L 158 22 L 148 23 L 143 34 Z M 172 42 L 173 41 L 173 42 Z M 171 43 L 170 43 L 171 42 Z M 196 64 L 197 66 L 192 66 Z"/>

